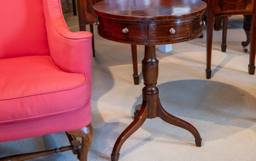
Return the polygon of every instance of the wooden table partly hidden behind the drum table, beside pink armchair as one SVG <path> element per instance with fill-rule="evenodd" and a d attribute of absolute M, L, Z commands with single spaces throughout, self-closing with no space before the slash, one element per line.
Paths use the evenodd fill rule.
<path fill-rule="evenodd" d="M 75 1 L 75 0 L 73 0 Z M 79 15 L 79 28 L 80 31 L 86 31 L 86 25 L 90 24 L 90 30 L 93 34 L 92 46 L 93 46 L 93 57 L 95 57 L 94 49 L 94 32 L 93 24 L 97 20 L 97 15 L 94 12 L 93 5 L 102 0 L 78 0 L 78 15 Z M 74 8 L 74 3 L 73 3 Z M 137 62 L 137 45 L 131 45 L 132 48 L 132 64 L 133 64 L 133 81 L 135 85 L 139 84 L 139 75 L 138 75 L 138 62 Z"/>

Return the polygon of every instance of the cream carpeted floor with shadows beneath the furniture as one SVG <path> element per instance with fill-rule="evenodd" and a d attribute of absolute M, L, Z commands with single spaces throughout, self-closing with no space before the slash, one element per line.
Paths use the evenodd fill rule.
<path fill-rule="evenodd" d="M 79 31 L 78 16 L 65 14 L 72 32 Z M 221 52 L 222 31 L 214 31 L 212 78 L 206 80 L 206 30 L 203 39 L 173 45 L 173 51 L 158 51 L 159 97 L 165 110 L 197 128 L 203 138 L 196 147 L 193 135 L 160 118 L 147 119 L 122 146 L 120 161 L 255 161 L 256 75 L 248 74 L 249 52 L 241 42 L 243 16 L 231 16 L 227 51 Z M 90 31 L 87 26 L 87 31 Z M 141 61 L 144 46 L 138 46 L 140 84 L 133 85 L 131 45 L 112 42 L 95 33 L 91 115 L 94 138 L 89 161 L 110 161 L 118 136 L 133 121 L 133 111 L 142 103 Z M 248 47 L 249 50 L 249 47 Z M 69 145 L 65 133 L 0 143 L 0 157 Z M 51 154 L 33 161 L 75 161 L 72 152 Z"/>

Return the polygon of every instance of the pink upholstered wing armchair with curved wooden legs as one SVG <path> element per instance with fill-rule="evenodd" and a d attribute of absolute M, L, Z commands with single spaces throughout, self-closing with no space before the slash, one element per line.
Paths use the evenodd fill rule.
<path fill-rule="evenodd" d="M 0 142 L 67 131 L 71 143 L 0 161 L 66 150 L 86 161 L 92 34 L 69 31 L 60 0 L 0 0 L 0 15 Z"/>

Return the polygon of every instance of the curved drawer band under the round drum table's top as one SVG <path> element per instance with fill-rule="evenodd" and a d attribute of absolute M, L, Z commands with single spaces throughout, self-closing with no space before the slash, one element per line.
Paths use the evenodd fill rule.
<path fill-rule="evenodd" d="M 97 4 L 96 4 L 97 5 Z M 203 25 L 200 25 L 200 21 L 203 14 L 194 17 L 178 20 L 165 20 L 165 21 L 125 21 L 105 18 L 98 16 L 99 26 L 98 34 L 108 40 L 129 43 L 132 45 L 166 45 L 179 43 L 184 41 L 189 41 L 198 38 L 203 33 Z M 116 24 L 131 24 L 134 23 L 135 26 L 140 24 L 140 31 L 143 33 L 137 35 L 133 28 L 129 25 L 123 25 L 122 27 L 115 27 L 112 23 Z M 111 26 L 111 28 L 110 28 Z M 147 26 L 147 30 L 145 30 Z M 122 32 L 123 28 L 127 28 L 131 35 L 125 36 Z M 171 34 L 169 30 L 174 28 L 175 33 Z M 113 31 L 119 34 L 113 34 Z M 122 33 L 121 33 L 122 32 Z M 147 37 L 144 37 L 145 32 Z"/>

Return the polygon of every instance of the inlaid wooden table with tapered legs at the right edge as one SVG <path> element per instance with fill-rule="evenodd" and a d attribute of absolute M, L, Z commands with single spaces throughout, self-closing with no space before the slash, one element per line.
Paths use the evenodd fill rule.
<path fill-rule="evenodd" d="M 226 51 L 226 28 L 229 15 L 252 15 L 251 16 L 251 36 L 250 36 L 250 58 L 248 73 L 255 73 L 255 53 L 256 53 L 256 3 L 254 0 L 206 0 L 207 3 L 207 67 L 206 78 L 211 78 L 211 50 L 212 50 L 212 30 L 214 16 L 223 16 L 222 51 Z M 248 33 L 246 33 L 248 34 Z M 247 44 L 248 45 L 248 44 Z M 246 46 L 244 44 L 243 46 Z"/>

